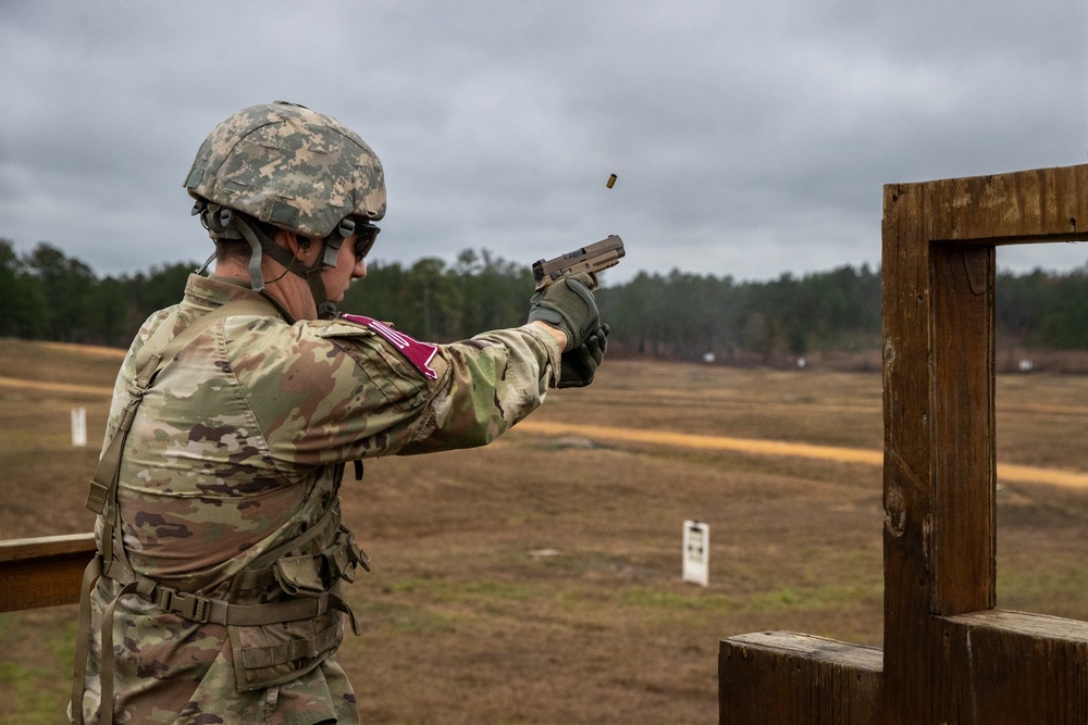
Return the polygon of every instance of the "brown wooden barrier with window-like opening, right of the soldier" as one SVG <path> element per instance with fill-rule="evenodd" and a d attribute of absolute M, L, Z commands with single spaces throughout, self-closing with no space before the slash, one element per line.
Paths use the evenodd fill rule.
<path fill-rule="evenodd" d="M 996 605 L 996 246 L 1088 239 L 1088 165 L 885 187 L 885 637 L 721 641 L 722 724 L 1088 723 L 1088 624 Z"/>

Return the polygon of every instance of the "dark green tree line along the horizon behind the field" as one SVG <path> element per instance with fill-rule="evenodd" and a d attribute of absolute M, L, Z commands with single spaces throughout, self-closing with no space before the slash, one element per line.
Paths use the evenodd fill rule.
<path fill-rule="evenodd" d="M 127 347 L 147 316 L 175 303 L 195 262 L 99 277 L 41 242 L 24 254 L 0 239 L 0 337 Z M 1067 273 L 998 276 L 997 334 L 1031 349 L 1088 350 L 1088 263 Z M 374 261 L 343 310 L 452 341 L 521 324 L 533 287 L 526 265 L 486 250 L 454 263 Z M 766 282 L 640 272 L 597 293 L 609 353 L 776 364 L 814 352 L 880 347 L 880 273 L 862 265 Z"/>

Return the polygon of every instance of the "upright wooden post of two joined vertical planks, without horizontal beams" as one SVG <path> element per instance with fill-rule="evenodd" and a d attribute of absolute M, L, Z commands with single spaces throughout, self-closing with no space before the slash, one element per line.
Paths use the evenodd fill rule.
<path fill-rule="evenodd" d="M 885 666 L 889 723 L 928 723 L 940 621 L 993 607 L 993 247 L 929 243 L 923 184 L 885 191 Z M 920 710 L 919 710 L 920 709 Z"/>

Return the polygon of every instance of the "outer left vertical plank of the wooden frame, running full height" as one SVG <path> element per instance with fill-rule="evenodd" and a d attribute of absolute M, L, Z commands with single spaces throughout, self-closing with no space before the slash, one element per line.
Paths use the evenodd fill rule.
<path fill-rule="evenodd" d="M 885 187 L 882 307 L 885 418 L 885 661 L 887 722 L 928 722 L 916 692 L 929 687 L 932 642 L 932 359 L 927 189 Z"/>

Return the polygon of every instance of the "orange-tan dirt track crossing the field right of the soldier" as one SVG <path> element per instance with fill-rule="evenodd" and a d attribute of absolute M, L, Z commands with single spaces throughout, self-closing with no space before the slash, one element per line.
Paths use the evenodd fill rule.
<path fill-rule="evenodd" d="M 705 450 L 738 451 L 761 455 L 790 455 L 839 463 L 864 463 L 882 466 L 883 452 L 861 448 L 838 448 L 814 443 L 791 443 L 783 440 L 758 440 L 755 438 L 728 438 L 725 436 L 701 436 L 670 430 L 646 430 L 638 428 L 616 428 L 610 426 L 545 423 L 532 418 L 522 421 L 515 430 L 551 436 L 579 435 L 602 440 L 659 446 L 680 446 Z M 1088 488 L 1088 473 L 1037 468 L 1027 465 L 998 464 L 998 479 L 1018 484 L 1049 484 L 1068 488 Z"/>

